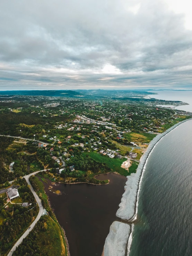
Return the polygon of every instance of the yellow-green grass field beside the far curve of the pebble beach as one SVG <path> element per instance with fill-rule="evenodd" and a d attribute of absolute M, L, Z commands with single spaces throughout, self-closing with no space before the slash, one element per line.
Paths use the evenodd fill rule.
<path fill-rule="evenodd" d="M 149 143 L 156 134 L 130 132 L 124 135 L 126 139 L 133 142 Z"/>

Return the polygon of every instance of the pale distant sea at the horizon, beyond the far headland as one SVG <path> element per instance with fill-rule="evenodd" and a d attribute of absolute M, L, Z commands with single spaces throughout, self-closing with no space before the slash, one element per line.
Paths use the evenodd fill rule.
<path fill-rule="evenodd" d="M 153 91 L 158 94 L 148 95 L 151 98 L 161 100 L 179 100 L 188 103 L 175 109 L 192 112 L 192 91 Z"/>

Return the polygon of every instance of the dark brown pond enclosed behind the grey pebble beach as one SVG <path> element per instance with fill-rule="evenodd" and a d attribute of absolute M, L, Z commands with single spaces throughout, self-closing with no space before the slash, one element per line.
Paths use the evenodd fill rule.
<path fill-rule="evenodd" d="M 126 177 L 102 174 L 106 185 L 44 183 L 51 207 L 66 232 L 71 256 L 102 255 L 105 239 L 124 193 Z M 50 191 L 59 190 L 60 195 Z"/>

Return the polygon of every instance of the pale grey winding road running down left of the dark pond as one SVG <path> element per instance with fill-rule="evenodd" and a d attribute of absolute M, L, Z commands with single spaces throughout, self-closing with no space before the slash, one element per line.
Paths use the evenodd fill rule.
<path fill-rule="evenodd" d="M 12 253 L 15 251 L 16 247 L 18 245 L 20 245 L 20 243 L 23 241 L 24 238 L 26 238 L 29 234 L 29 232 L 34 228 L 35 224 L 37 223 L 37 221 L 40 219 L 40 217 L 42 215 L 44 215 L 46 213 L 46 210 L 43 208 L 42 203 L 41 203 L 41 199 L 37 196 L 36 192 L 34 191 L 32 185 L 30 184 L 29 182 L 29 177 L 38 173 L 38 172 L 43 172 L 44 170 L 41 170 L 41 171 L 37 171 L 37 172 L 33 172 L 33 173 L 30 173 L 29 175 L 26 175 L 24 176 L 24 178 L 26 179 L 27 183 L 29 184 L 29 187 L 30 187 L 30 190 L 32 191 L 36 201 L 37 201 L 37 204 L 39 206 L 39 213 L 36 217 L 36 219 L 34 220 L 34 222 L 30 225 L 30 229 L 27 229 L 25 231 L 25 233 L 19 238 L 19 240 L 15 243 L 15 245 L 12 247 L 12 249 L 9 251 L 9 253 L 7 254 L 7 256 L 11 256 Z"/>

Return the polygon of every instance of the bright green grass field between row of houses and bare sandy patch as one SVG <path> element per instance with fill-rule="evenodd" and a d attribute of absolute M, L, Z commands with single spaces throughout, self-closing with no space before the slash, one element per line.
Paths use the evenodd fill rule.
<path fill-rule="evenodd" d="M 119 158 L 110 158 L 108 156 L 103 156 L 101 154 L 98 154 L 96 152 L 84 152 L 83 155 L 89 155 L 91 158 L 95 159 L 98 162 L 106 163 L 109 168 L 112 169 L 113 172 L 118 172 L 119 174 L 123 176 L 129 175 L 129 172 L 123 168 L 121 168 L 121 165 L 123 161 L 125 161 L 125 158 L 119 159 Z"/>

